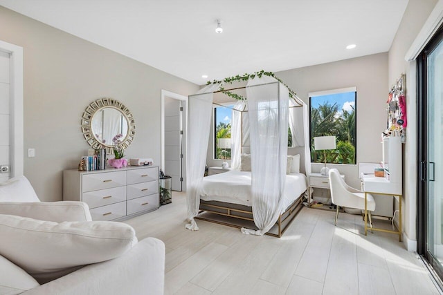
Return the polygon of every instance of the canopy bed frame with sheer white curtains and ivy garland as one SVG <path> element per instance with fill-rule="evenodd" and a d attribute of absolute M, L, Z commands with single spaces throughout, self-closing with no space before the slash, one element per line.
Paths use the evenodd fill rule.
<path fill-rule="evenodd" d="M 232 84 L 233 81 L 247 82 L 246 86 L 224 89 L 223 83 Z M 246 89 L 246 97 L 231 91 Z M 199 199 L 199 187 L 203 180 L 206 166 L 206 151 L 210 133 L 211 109 L 214 93 L 224 93 L 237 100 L 233 108 L 240 114 L 248 113 L 249 136 L 251 148 L 251 174 L 252 183 L 252 207 L 226 208 L 219 204 L 208 204 Z M 299 111 L 296 111 L 296 110 Z M 235 113 L 237 113 L 235 112 Z M 234 113 L 233 113 L 234 117 Z M 234 120 L 234 118 L 233 118 Z M 215 81 L 208 83 L 195 95 L 188 99 L 188 148 L 186 168 L 187 175 L 187 204 L 188 221 L 187 229 L 198 230 L 195 218 L 199 213 L 211 211 L 223 216 L 236 217 L 242 220 L 250 220 L 255 223 L 257 229 L 242 227 L 244 234 L 262 236 L 270 234 L 269 230 L 278 225 L 278 234 L 281 236 L 295 214 L 296 206 L 301 206 L 302 198 L 298 198 L 282 213 L 282 191 L 286 177 L 287 161 L 287 126 L 291 121 L 291 131 L 296 131 L 296 146 L 305 147 L 305 173 L 310 172 L 309 157 L 309 132 L 307 131 L 307 105 L 291 89 L 275 77 L 273 73 L 258 72 L 253 75 L 245 74 L 224 79 L 223 82 Z M 240 120 L 242 122 L 242 120 Z M 301 124 L 300 124 L 301 122 Z M 297 125 L 297 126 L 296 126 Z M 300 126 L 301 125 L 301 126 Z M 235 133 L 233 131 L 233 133 Z M 243 128 L 240 129 L 241 137 L 237 140 L 237 146 L 233 145 L 235 157 L 243 146 Z M 301 133 L 301 134 L 300 134 Z M 294 142 L 294 141 L 293 141 Z M 239 143 L 239 146 L 238 146 Z M 234 161 L 234 160 L 233 160 Z M 238 162 L 239 160 L 237 160 Z M 190 164 L 192 163 L 192 164 Z M 237 163 L 238 164 L 238 163 Z M 237 167 L 234 167 L 237 168 Z M 210 207 L 208 209 L 208 207 Z M 246 206 L 244 206 L 246 207 Z M 299 210 L 298 210 L 299 211 Z M 214 220 L 209 220 L 217 222 Z M 283 224 L 287 222 L 284 227 Z M 217 222 L 226 224 L 224 222 Z M 232 225 L 241 227 L 239 225 Z"/>

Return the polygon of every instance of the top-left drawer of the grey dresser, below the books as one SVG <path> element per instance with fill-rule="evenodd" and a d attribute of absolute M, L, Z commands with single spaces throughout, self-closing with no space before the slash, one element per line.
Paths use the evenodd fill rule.
<path fill-rule="evenodd" d="M 96 191 L 126 185 L 126 171 L 82 175 L 82 191 Z"/>

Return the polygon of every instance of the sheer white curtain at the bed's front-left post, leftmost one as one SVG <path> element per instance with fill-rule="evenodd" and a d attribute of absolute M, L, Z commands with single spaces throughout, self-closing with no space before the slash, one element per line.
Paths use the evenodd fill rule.
<path fill-rule="evenodd" d="M 187 229 L 198 231 L 194 218 L 199 213 L 199 187 L 204 177 L 206 152 L 208 150 L 210 119 L 213 109 L 213 92 L 220 84 L 202 88 L 188 99 L 188 138 L 186 146 L 186 202 L 188 205 Z"/>

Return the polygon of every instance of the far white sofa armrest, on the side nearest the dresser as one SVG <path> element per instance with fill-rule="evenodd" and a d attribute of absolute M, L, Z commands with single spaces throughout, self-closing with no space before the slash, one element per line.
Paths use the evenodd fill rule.
<path fill-rule="evenodd" d="M 92 220 L 88 204 L 74 201 L 0 202 L 0 214 L 53 222 Z"/>

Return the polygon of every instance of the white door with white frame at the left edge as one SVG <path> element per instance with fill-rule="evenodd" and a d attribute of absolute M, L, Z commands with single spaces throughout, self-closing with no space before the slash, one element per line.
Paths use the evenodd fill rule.
<path fill-rule="evenodd" d="M 0 182 L 23 162 L 23 48 L 0 41 Z"/>

